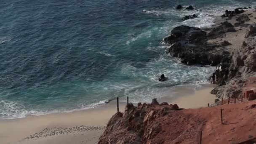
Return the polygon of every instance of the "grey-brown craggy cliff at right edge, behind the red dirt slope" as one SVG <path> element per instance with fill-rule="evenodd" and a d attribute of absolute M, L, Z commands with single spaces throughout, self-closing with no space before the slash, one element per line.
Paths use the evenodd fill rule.
<path fill-rule="evenodd" d="M 218 98 L 239 97 L 243 94 L 245 84 L 254 83 L 249 77 L 256 76 L 256 24 L 246 29 L 243 43 L 229 56 L 230 62 L 219 64 L 210 77 L 218 85 L 211 91 Z"/>

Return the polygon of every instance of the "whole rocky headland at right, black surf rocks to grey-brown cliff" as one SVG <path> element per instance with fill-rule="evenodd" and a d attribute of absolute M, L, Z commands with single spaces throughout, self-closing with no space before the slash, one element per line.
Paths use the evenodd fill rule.
<path fill-rule="evenodd" d="M 253 83 L 248 77 L 256 75 L 256 11 L 251 7 L 226 10 L 216 22 L 207 30 L 175 27 L 163 41 L 170 44 L 168 53 L 184 64 L 216 67 L 209 81 L 218 86 L 211 94 L 238 98 L 244 85 Z"/>

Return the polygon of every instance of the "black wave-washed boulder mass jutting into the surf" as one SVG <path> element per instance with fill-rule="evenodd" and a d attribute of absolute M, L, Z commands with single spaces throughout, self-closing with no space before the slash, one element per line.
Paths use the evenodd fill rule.
<path fill-rule="evenodd" d="M 211 32 L 212 37 L 223 31 L 230 32 L 234 29 L 229 23 L 223 23 L 216 28 L 216 33 Z M 235 29 L 234 29 L 235 30 Z M 207 43 L 206 32 L 197 27 L 179 26 L 171 31 L 169 37 L 164 38 L 165 43 L 171 44 L 169 53 L 173 57 L 181 59 L 187 65 L 201 64 L 216 66 L 229 56 L 229 52 L 217 51 L 219 45 Z"/>

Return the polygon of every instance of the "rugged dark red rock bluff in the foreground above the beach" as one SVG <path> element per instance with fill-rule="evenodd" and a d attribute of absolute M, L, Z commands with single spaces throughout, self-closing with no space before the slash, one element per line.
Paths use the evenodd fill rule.
<path fill-rule="evenodd" d="M 116 113 L 107 124 L 99 144 L 170 144 L 197 141 L 203 120 L 185 115 L 174 104 L 129 104 L 124 113 Z M 189 125 L 184 125 L 189 123 Z M 193 136 L 194 135 L 194 136 Z M 193 143 L 193 142 L 192 142 Z"/>

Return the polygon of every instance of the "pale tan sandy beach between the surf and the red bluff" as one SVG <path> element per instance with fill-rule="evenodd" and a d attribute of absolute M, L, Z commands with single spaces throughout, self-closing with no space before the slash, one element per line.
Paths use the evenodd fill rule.
<path fill-rule="evenodd" d="M 191 92 L 191 88 L 176 89 L 180 96 L 165 96 L 159 102 L 178 104 L 182 108 L 207 107 L 216 97 L 210 94 L 214 85 Z M 184 95 L 182 95 L 182 93 Z M 125 103 L 120 102 L 123 112 Z M 136 105 L 136 104 L 134 104 Z M 13 120 L 0 120 L 1 144 L 95 144 L 108 120 L 117 112 L 116 101 L 101 107 L 70 113 L 27 116 Z"/>

